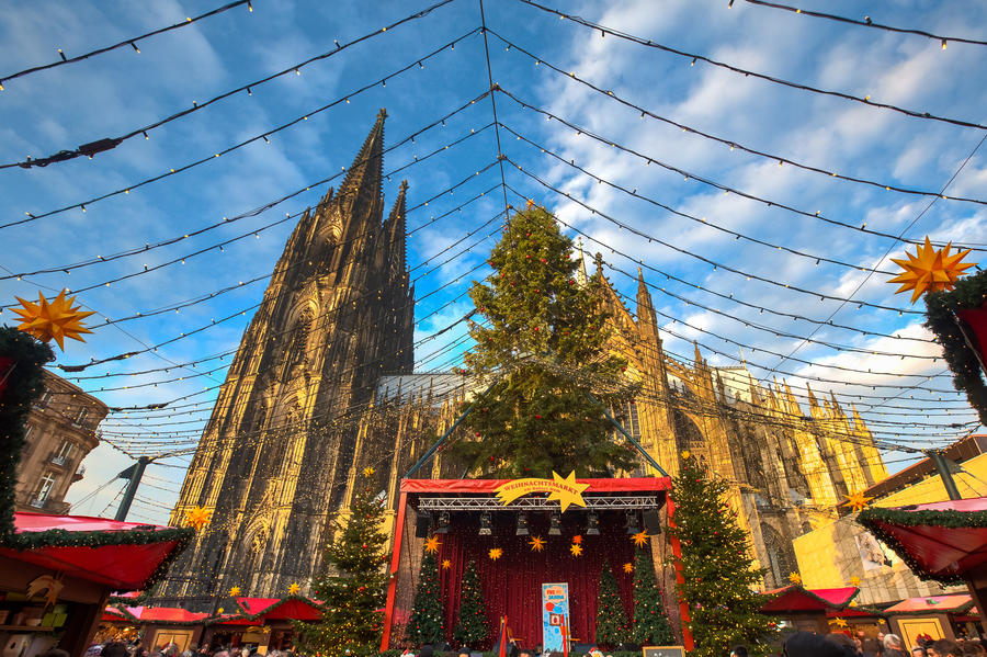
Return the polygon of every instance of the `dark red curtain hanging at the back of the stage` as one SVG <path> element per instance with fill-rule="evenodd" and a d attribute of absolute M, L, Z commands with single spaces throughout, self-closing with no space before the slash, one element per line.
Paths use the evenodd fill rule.
<path fill-rule="evenodd" d="M 560 536 L 548 535 L 548 517 L 529 519 L 531 535 L 515 536 L 517 516 L 494 513 L 494 534 L 478 535 L 477 516 L 453 516 L 447 534 L 439 534 L 439 563 L 449 559 L 451 567 L 440 568 L 444 594 L 446 638 L 452 644 L 453 630 L 460 610 L 460 582 L 469 560 L 480 573 L 486 602 L 489 647 L 497 636 L 500 616 L 507 615 L 508 626 L 520 645 L 533 647 L 542 643 L 542 585 L 569 585 L 570 632 L 574 641 L 592 643 L 595 639 L 597 594 L 603 563 L 610 564 L 621 592 L 624 611 L 631 618 L 633 608 L 633 575 L 624 573 L 624 564 L 634 562 L 634 544 L 627 535 L 622 512 L 601 512 L 600 535 L 586 535 L 586 514 L 568 512 L 563 516 Z M 572 556 L 572 536 L 582 535 L 582 555 Z M 532 536 L 547 541 L 542 552 L 532 551 Z M 503 555 L 495 560 L 490 548 L 500 547 Z"/>

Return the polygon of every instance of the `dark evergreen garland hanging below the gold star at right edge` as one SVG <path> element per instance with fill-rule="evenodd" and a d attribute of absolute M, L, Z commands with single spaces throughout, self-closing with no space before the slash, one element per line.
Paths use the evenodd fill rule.
<path fill-rule="evenodd" d="M 953 372 L 953 385 L 966 393 L 969 405 L 980 416 L 980 423 L 987 424 L 987 385 L 977 354 L 966 344 L 956 314 L 964 310 L 980 310 L 987 302 L 987 271 L 955 282 L 951 292 L 929 292 L 926 294 L 926 328 L 935 333 L 942 344 L 946 364 Z M 976 344 L 976 337 L 969 336 Z M 982 352 L 984 346 L 980 346 Z"/>

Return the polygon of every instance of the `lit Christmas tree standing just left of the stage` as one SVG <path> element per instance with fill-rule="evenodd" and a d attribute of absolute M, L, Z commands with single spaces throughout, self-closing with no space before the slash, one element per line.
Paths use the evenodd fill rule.
<path fill-rule="evenodd" d="M 337 525 L 336 541 L 326 548 L 324 574 L 313 581 L 324 603 L 322 620 L 297 625 L 306 655 L 345 657 L 377 655 L 386 598 L 387 535 L 381 531 L 384 499 L 375 494 L 374 471 L 356 483 L 350 517 Z"/>

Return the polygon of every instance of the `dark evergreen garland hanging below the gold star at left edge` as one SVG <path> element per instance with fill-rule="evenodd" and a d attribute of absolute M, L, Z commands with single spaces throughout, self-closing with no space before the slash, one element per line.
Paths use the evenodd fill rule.
<path fill-rule="evenodd" d="M 44 364 L 55 360 L 52 348 L 12 327 L 0 327 L 0 542 L 14 535 L 13 516 L 16 508 L 14 490 L 18 484 L 18 463 L 26 441 L 24 437 L 31 404 L 37 399 L 43 385 Z"/>

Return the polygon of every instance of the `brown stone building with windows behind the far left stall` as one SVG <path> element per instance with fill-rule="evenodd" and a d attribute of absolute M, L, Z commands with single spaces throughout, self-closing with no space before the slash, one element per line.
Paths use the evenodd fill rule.
<path fill-rule="evenodd" d="M 18 465 L 18 511 L 67 513 L 69 486 L 82 460 L 100 444 L 97 428 L 110 409 L 66 380 L 44 371 L 45 389 L 27 415 L 27 443 Z"/>

